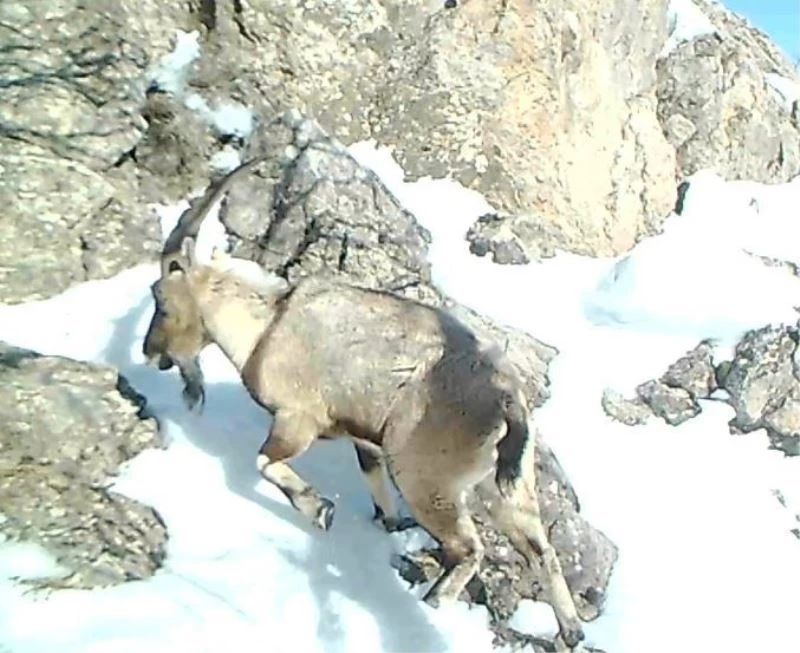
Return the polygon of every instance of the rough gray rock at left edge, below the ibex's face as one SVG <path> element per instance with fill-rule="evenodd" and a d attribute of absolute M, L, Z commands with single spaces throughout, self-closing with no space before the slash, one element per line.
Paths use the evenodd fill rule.
<path fill-rule="evenodd" d="M 161 446 L 143 398 L 106 367 L 0 343 L 0 535 L 49 551 L 91 588 L 151 576 L 165 556 L 158 514 L 107 489 L 119 466 Z"/>

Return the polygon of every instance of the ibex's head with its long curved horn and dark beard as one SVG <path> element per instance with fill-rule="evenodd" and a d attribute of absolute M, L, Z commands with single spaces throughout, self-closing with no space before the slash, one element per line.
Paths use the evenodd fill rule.
<path fill-rule="evenodd" d="M 209 186 L 183 212 L 167 237 L 161 252 L 161 277 L 152 285 L 155 311 L 142 345 L 148 364 L 160 370 L 176 365 L 184 382 L 183 400 L 191 410 L 205 402 L 203 372 L 199 355 L 211 340 L 191 288 L 196 266 L 195 242 L 200 225 L 211 207 L 236 177 L 255 165 L 252 159 Z"/>

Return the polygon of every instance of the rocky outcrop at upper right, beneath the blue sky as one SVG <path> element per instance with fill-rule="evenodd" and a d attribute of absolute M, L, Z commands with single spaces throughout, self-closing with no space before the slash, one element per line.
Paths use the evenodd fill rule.
<path fill-rule="evenodd" d="M 800 76 L 723 3 L 694 0 L 710 27 L 658 62 L 658 118 L 678 176 L 787 181 L 800 173 Z M 708 33 L 706 33 L 708 32 Z"/>

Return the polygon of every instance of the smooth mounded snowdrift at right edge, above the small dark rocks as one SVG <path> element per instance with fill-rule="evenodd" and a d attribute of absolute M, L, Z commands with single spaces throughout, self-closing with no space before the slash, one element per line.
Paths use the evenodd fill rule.
<path fill-rule="evenodd" d="M 585 296 L 595 324 L 635 325 L 722 341 L 767 323 L 794 324 L 800 279 L 753 256 L 800 261 L 800 222 L 787 207 L 800 183 L 688 179 L 682 214 L 616 261 Z"/>

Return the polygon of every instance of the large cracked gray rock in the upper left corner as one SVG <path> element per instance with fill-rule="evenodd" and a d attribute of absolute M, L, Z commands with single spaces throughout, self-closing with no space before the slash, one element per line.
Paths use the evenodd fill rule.
<path fill-rule="evenodd" d="M 128 159 L 146 129 L 147 56 L 123 17 L 104 0 L 0 7 L 0 301 L 48 297 L 156 252 Z"/>

